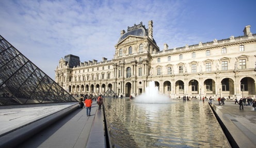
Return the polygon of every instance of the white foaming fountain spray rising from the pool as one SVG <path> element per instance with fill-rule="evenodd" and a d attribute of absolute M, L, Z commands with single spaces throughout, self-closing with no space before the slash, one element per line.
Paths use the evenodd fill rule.
<path fill-rule="evenodd" d="M 155 82 L 149 82 L 149 87 L 146 88 L 145 93 L 135 97 L 134 102 L 137 103 L 151 103 L 162 104 L 170 103 L 169 97 L 159 94 L 158 87 L 155 86 Z"/>

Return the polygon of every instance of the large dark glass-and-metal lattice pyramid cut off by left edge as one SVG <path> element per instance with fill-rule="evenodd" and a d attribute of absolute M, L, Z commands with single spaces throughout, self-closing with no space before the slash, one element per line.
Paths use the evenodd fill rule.
<path fill-rule="evenodd" d="M 0 35 L 0 105 L 77 102 Z"/>

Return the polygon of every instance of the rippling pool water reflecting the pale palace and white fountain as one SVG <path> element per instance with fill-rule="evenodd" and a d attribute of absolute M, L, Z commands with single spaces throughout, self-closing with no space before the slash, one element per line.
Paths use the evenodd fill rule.
<path fill-rule="evenodd" d="M 210 106 L 104 99 L 113 147 L 230 147 Z"/>

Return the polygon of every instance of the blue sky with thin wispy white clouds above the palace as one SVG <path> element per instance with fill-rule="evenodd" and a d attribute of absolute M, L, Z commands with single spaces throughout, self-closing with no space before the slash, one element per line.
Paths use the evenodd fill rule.
<path fill-rule="evenodd" d="M 59 0 L 0 1 L 0 35 L 46 75 L 65 55 L 81 62 L 114 58 L 121 30 L 140 22 L 160 50 L 242 36 L 245 26 L 256 33 L 254 0 Z"/>

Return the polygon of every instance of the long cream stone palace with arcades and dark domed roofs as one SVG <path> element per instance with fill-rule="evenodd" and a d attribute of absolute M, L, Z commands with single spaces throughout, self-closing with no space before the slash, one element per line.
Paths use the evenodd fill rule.
<path fill-rule="evenodd" d="M 119 97 L 137 96 L 154 81 L 159 94 L 170 98 L 255 98 L 256 34 L 250 27 L 242 36 L 173 49 L 164 44 L 160 50 L 153 21 L 148 29 L 141 22 L 121 31 L 112 60 L 81 62 L 72 54 L 61 58 L 55 81 L 74 94 L 104 94 L 110 89 Z"/>

